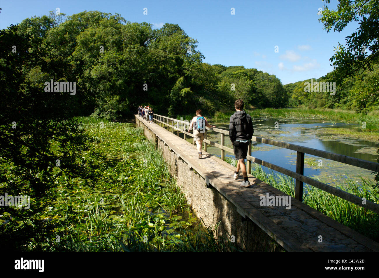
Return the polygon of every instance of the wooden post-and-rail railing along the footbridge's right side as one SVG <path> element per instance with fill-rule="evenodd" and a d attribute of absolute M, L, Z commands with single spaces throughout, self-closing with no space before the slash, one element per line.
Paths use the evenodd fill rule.
<path fill-rule="evenodd" d="M 154 114 L 154 120 L 155 122 L 159 123 L 161 126 L 167 126 L 168 129 L 171 128 L 171 132 L 174 133 L 174 130 L 177 131 L 177 135 L 179 136 L 179 133 L 184 134 L 184 139 L 186 139 L 186 136 L 192 137 L 192 143 L 195 145 L 194 139 L 193 139 L 193 134 L 188 133 L 186 129 L 186 126 L 190 125 L 190 122 L 188 121 L 182 121 L 182 120 L 177 120 L 174 118 L 169 118 L 163 115 L 157 115 Z M 171 125 L 169 124 L 169 121 L 171 121 Z M 176 123 L 177 126 L 174 125 L 174 122 Z M 184 125 L 183 129 L 179 128 L 179 124 Z M 221 149 L 221 159 L 225 160 L 225 151 L 234 153 L 232 148 L 226 147 L 225 146 L 225 135 L 228 136 L 229 138 L 229 131 L 227 130 L 222 130 L 219 128 L 206 128 L 207 130 L 215 131 L 216 133 L 221 134 L 221 144 L 218 144 L 216 142 L 209 141 L 208 139 L 204 139 L 204 150 L 207 151 L 207 144 L 214 146 L 216 148 Z M 376 204 L 374 202 L 365 200 L 363 202 L 362 198 L 359 196 L 356 196 L 354 194 L 348 193 L 346 191 L 343 191 L 339 188 L 335 188 L 333 186 L 327 185 L 326 183 L 319 182 L 318 180 L 315 180 L 313 178 L 304 176 L 304 154 L 307 153 L 309 155 L 315 155 L 319 156 L 322 158 L 326 158 L 329 160 L 334 160 L 338 161 L 341 163 L 349 164 L 352 166 L 357 166 L 362 169 L 368 169 L 374 172 L 379 171 L 379 163 L 371 162 L 371 161 L 366 161 L 346 155 L 339 155 L 336 153 L 330 153 L 330 152 L 325 152 L 323 150 L 316 150 L 314 148 L 308 148 L 308 147 L 303 147 L 295 144 L 290 144 L 286 142 L 280 142 L 280 141 L 275 141 L 275 140 L 269 140 L 265 139 L 262 137 L 258 136 L 253 136 L 252 141 L 255 142 L 260 142 L 263 144 L 268 144 L 268 145 L 273 145 L 281 148 L 287 148 L 289 150 L 294 150 L 297 152 L 297 158 L 296 158 L 296 172 L 293 172 L 291 170 L 285 169 L 283 167 L 277 166 L 275 164 L 260 160 L 259 158 L 255 158 L 254 156 L 251 156 L 251 142 L 249 143 L 249 149 L 248 149 L 248 155 L 247 155 L 247 173 L 251 174 L 251 163 L 257 163 L 262 166 L 268 167 L 270 169 L 273 169 L 277 172 L 280 172 L 282 174 L 288 175 L 290 177 L 293 177 L 296 179 L 295 182 L 295 198 L 299 201 L 302 202 L 302 196 L 303 196 L 303 184 L 307 183 L 309 185 L 315 186 L 316 188 L 319 188 L 323 191 L 326 191 L 334 196 L 338 196 L 342 199 L 345 199 L 349 202 L 352 202 L 356 205 L 359 205 L 361 207 L 364 207 L 368 210 L 371 210 L 373 212 L 379 213 L 379 204 Z M 364 204 L 363 204 L 364 203 Z"/>

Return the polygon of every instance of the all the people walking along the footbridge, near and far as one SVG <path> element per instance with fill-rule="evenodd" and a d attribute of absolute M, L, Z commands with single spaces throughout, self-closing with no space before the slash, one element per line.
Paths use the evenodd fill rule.
<path fill-rule="evenodd" d="M 236 180 L 239 177 L 241 170 L 244 181 L 241 182 L 242 187 L 251 186 L 249 178 L 247 177 L 245 159 L 247 157 L 247 149 L 249 142 L 254 134 L 253 122 L 251 116 L 243 111 L 243 100 L 238 99 L 234 103 L 236 112 L 230 116 L 229 120 L 229 138 L 232 141 L 235 160 L 237 160 L 237 168 L 233 172 L 233 178 Z M 202 116 L 200 109 L 196 110 L 196 116 L 191 120 L 188 128 L 188 132 L 193 129 L 193 138 L 196 142 L 198 158 L 202 159 L 202 145 L 206 136 L 206 128 L 215 128 L 215 125 L 210 125 L 205 117 Z M 149 116 L 150 124 L 153 123 L 153 110 L 149 106 L 138 107 L 139 117 L 143 117 L 148 120 Z"/>

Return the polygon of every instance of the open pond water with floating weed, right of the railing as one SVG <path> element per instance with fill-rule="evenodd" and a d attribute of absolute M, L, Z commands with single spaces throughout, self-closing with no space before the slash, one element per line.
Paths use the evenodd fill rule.
<path fill-rule="evenodd" d="M 212 123 L 217 128 L 229 130 L 229 122 Z M 352 156 L 362 160 L 376 162 L 378 141 L 377 136 L 363 133 L 362 126 L 356 123 L 338 123 L 323 119 L 253 119 L 254 136 L 288 142 L 305 147 Z M 207 139 L 221 144 L 221 134 L 207 132 Z M 225 145 L 232 148 L 229 137 L 225 137 Z M 221 151 L 208 146 L 207 151 L 221 157 Z M 225 156 L 234 158 L 232 153 L 225 152 Z M 287 168 L 296 172 L 296 152 L 260 142 L 253 142 L 252 156 L 269 163 Z M 253 163 L 254 165 L 254 163 Z M 262 167 L 266 173 L 271 169 Z M 279 174 L 272 171 L 274 174 Z M 304 175 L 319 177 L 330 185 L 339 185 L 341 179 L 361 176 L 373 180 L 372 171 L 362 169 L 337 161 L 305 154 Z"/>

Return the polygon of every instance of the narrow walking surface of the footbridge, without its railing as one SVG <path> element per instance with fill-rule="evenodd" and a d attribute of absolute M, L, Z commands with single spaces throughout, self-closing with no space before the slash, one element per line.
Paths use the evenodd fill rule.
<path fill-rule="evenodd" d="M 141 118 L 135 115 L 136 119 Z M 242 178 L 233 179 L 234 167 L 221 159 L 202 151 L 203 159 L 197 158 L 196 146 L 181 139 L 165 128 L 141 120 L 172 151 L 198 172 L 207 185 L 218 190 L 237 207 L 245 218 L 250 218 L 287 251 L 379 251 L 379 243 L 353 231 L 332 218 L 291 198 L 291 208 L 261 206 L 260 196 L 287 196 L 273 186 L 249 175 L 249 188 L 240 186 Z M 319 235 L 322 242 L 319 242 Z"/>

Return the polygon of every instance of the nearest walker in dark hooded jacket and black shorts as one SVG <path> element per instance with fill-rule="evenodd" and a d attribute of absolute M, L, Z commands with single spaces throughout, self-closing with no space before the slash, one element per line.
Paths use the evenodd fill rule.
<path fill-rule="evenodd" d="M 238 160 L 237 169 L 234 172 L 234 179 L 238 178 L 238 172 L 242 171 L 244 181 L 242 187 L 249 187 L 251 184 L 247 177 L 245 159 L 247 156 L 247 148 L 249 141 L 253 137 L 254 128 L 251 116 L 243 111 L 243 100 L 238 99 L 234 103 L 236 112 L 230 116 L 229 121 L 229 137 L 232 141 L 235 160 Z"/>

